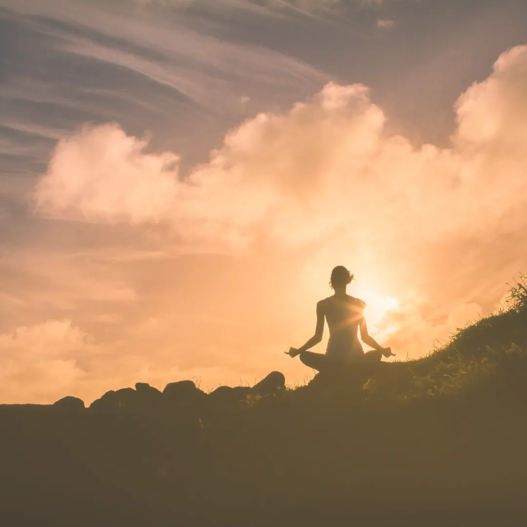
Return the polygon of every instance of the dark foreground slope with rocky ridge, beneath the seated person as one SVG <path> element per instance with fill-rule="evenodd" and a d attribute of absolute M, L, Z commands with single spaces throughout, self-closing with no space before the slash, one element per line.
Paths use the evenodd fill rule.
<path fill-rule="evenodd" d="M 319 377 L 260 397 L 269 387 L 139 385 L 89 409 L 0 407 L 0 520 L 523 525 L 524 300 L 363 387 Z"/>

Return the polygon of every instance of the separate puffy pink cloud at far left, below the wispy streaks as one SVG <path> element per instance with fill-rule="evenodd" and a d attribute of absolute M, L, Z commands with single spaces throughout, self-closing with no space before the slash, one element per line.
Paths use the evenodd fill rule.
<path fill-rule="evenodd" d="M 36 189 L 38 209 L 91 222 L 168 218 L 178 200 L 179 157 L 144 153 L 147 144 L 113 124 L 60 141 Z"/>

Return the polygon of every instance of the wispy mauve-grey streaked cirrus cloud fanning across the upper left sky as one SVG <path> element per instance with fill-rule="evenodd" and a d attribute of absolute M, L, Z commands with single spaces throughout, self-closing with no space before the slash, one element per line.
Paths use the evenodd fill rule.
<path fill-rule="evenodd" d="M 210 148 L 211 129 L 222 133 L 226 121 L 251 112 L 269 93 L 289 102 L 328 80 L 279 51 L 214 36 L 208 25 L 192 28 L 188 17 L 142 16 L 132 5 L 7 2 L 0 23 L 11 44 L 0 61 L 10 74 L 0 83 L 0 126 L 19 167 L 32 170 L 32 158 L 45 162 L 51 150 L 31 141 L 25 147 L 19 130 L 66 136 L 84 121 L 116 120 L 127 128 L 151 122 L 163 130 L 157 141 L 178 133 L 173 123 L 181 120 L 209 131 L 186 147 L 198 156 L 206 152 L 202 142 Z M 188 133 L 178 138 L 190 141 Z"/>

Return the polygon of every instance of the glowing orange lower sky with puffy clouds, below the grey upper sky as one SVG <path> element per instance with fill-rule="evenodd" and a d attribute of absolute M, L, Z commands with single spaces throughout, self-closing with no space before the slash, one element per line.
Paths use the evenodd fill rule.
<path fill-rule="evenodd" d="M 366 85 L 326 79 L 184 170 L 152 134 L 81 119 L 24 189 L 31 245 L 0 252 L 0 402 L 303 382 L 282 352 L 313 334 L 335 265 L 373 336 L 426 354 L 524 270 L 525 93 L 527 47 L 503 50 L 458 94 L 447 144 L 416 144 Z"/>

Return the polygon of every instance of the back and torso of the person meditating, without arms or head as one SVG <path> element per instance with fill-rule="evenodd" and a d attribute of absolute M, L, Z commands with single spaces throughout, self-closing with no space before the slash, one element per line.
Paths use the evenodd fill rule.
<path fill-rule="evenodd" d="M 362 357 L 358 328 L 366 304 L 350 295 L 330 296 L 323 302 L 329 329 L 326 355 L 335 359 Z"/>

